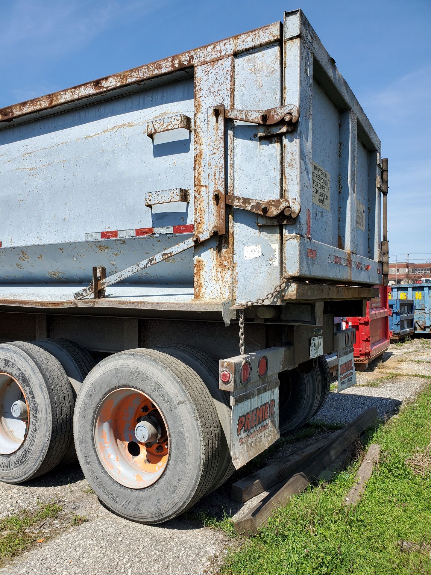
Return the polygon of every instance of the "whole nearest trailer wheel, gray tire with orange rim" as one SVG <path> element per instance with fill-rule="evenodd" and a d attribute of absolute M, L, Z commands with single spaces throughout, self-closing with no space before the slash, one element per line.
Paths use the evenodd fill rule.
<path fill-rule="evenodd" d="M 179 515 L 210 489 L 220 424 L 202 379 L 159 350 L 103 359 L 75 405 L 76 453 L 95 493 L 141 523 Z"/>

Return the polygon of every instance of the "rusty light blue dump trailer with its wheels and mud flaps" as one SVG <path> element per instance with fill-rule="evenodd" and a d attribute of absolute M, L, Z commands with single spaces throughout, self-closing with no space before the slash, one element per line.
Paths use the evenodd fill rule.
<path fill-rule="evenodd" d="M 300 10 L 0 128 L 0 480 L 78 457 L 175 517 L 326 400 L 387 274 L 380 141 Z"/>

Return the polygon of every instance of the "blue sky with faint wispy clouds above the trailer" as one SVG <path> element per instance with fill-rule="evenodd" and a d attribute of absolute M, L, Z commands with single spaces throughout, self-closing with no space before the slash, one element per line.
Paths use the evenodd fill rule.
<path fill-rule="evenodd" d="M 298 7 L 389 158 L 391 259 L 410 252 L 411 261 L 429 260 L 431 0 L 0 0 L 0 108 L 270 24 Z"/>

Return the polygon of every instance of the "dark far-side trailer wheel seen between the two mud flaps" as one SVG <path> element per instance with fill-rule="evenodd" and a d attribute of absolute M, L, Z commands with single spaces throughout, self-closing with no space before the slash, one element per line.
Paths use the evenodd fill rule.
<path fill-rule="evenodd" d="M 321 378 L 317 367 L 309 373 L 298 369 L 282 371 L 279 393 L 280 433 L 302 427 L 313 417 L 321 398 Z"/>

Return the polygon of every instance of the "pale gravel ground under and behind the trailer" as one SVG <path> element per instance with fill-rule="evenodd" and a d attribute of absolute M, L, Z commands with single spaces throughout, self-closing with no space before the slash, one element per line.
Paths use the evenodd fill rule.
<path fill-rule="evenodd" d="M 390 346 L 379 362 L 364 373 L 357 373 L 353 388 L 329 394 L 328 401 L 315 417 L 323 424 L 347 423 L 368 407 L 375 406 L 386 419 L 397 413 L 406 398 L 414 397 L 428 381 L 416 374 L 431 375 L 431 340 L 413 340 Z M 320 429 L 302 439 L 284 439 L 270 461 L 293 453 L 320 439 L 329 431 Z M 250 471 L 243 471 L 245 475 Z M 238 478 L 238 474 L 235 476 Z M 151 575 L 192 575 L 217 570 L 229 547 L 238 545 L 221 531 L 203 528 L 190 515 L 209 512 L 238 517 L 265 494 L 245 504 L 230 499 L 230 483 L 202 499 L 188 514 L 163 524 L 144 526 L 113 515 L 102 507 L 88 488 L 78 465 L 54 470 L 24 485 L 0 482 L 0 517 L 37 509 L 40 503 L 57 503 L 63 511 L 55 520 L 41 526 L 44 542 L 0 568 L 7 575 L 59 573 L 151 573 Z M 71 526 L 75 515 L 87 521 Z"/>

